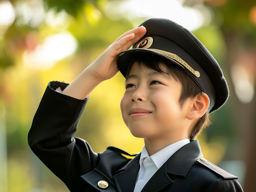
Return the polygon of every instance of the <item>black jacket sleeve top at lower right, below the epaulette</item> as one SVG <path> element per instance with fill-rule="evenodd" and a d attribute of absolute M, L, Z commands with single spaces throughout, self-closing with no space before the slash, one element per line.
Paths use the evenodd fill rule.
<path fill-rule="evenodd" d="M 239 182 L 236 180 L 223 180 L 222 178 L 215 180 L 210 184 L 205 192 L 243 192 Z"/>

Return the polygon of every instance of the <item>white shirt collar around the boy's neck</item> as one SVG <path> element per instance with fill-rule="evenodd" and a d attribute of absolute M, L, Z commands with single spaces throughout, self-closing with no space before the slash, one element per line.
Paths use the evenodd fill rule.
<path fill-rule="evenodd" d="M 183 147 L 184 145 L 190 143 L 189 139 L 183 139 L 181 141 L 178 141 L 176 143 L 172 143 L 171 145 L 168 145 L 167 147 L 165 147 L 164 149 L 158 151 L 157 153 L 155 153 L 154 155 L 151 155 L 151 159 L 154 161 L 156 167 L 159 169 L 160 167 L 162 167 L 162 165 L 164 165 L 164 163 L 176 152 L 178 151 L 181 147 Z M 144 161 L 144 159 L 148 158 L 148 151 L 145 147 L 145 145 L 142 148 L 142 152 L 140 155 L 140 170 L 142 167 L 142 163 Z M 139 171 L 140 172 L 140 171 Z"/>

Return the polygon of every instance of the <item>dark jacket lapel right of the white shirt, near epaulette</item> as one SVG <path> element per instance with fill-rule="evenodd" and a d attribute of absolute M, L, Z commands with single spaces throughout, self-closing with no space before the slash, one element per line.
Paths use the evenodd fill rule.
<path fill-rule="evenodd" d="M 158 169 L 141 192 L 161 191 L 174 182 L 171 178 L 177 176 L 185 177 L 192 165 L 201 157 L 203 157 L 203 155 L 198 140 L 191 141 L 187 145 L 184 145 Z M 130 192 L 131 191 L 133 190 L 130 190 Z"/>

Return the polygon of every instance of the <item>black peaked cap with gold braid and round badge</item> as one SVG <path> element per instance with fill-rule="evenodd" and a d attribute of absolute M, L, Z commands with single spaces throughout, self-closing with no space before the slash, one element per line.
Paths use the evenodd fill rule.
<path fill-rule="evenodd" d="M 126 76 L 136 57 L 156 54 L 182 67 L 208 95 L 210 113 L 226 103 L 228 84 L 218 62 L 188 29 L 163 18 L 152 18 L 141 25 L 147 29 L 144 37 L 133 45 L 133 49 L 123 51 L 116 57 L 117 67 L 123 76 Z"/>

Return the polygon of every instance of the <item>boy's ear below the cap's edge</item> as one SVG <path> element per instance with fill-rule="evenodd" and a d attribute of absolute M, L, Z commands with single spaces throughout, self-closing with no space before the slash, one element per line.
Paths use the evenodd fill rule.
<path fill-rule="evenodd" d="M 202 95 L 196 96 L 196 98 L 191 100 L 190 109 L 186 116 L 189 120 L 194 120 L 196 118 L 202 117 L 210 104 L 210 99 L 207 94 L 203 93 Z"/>

